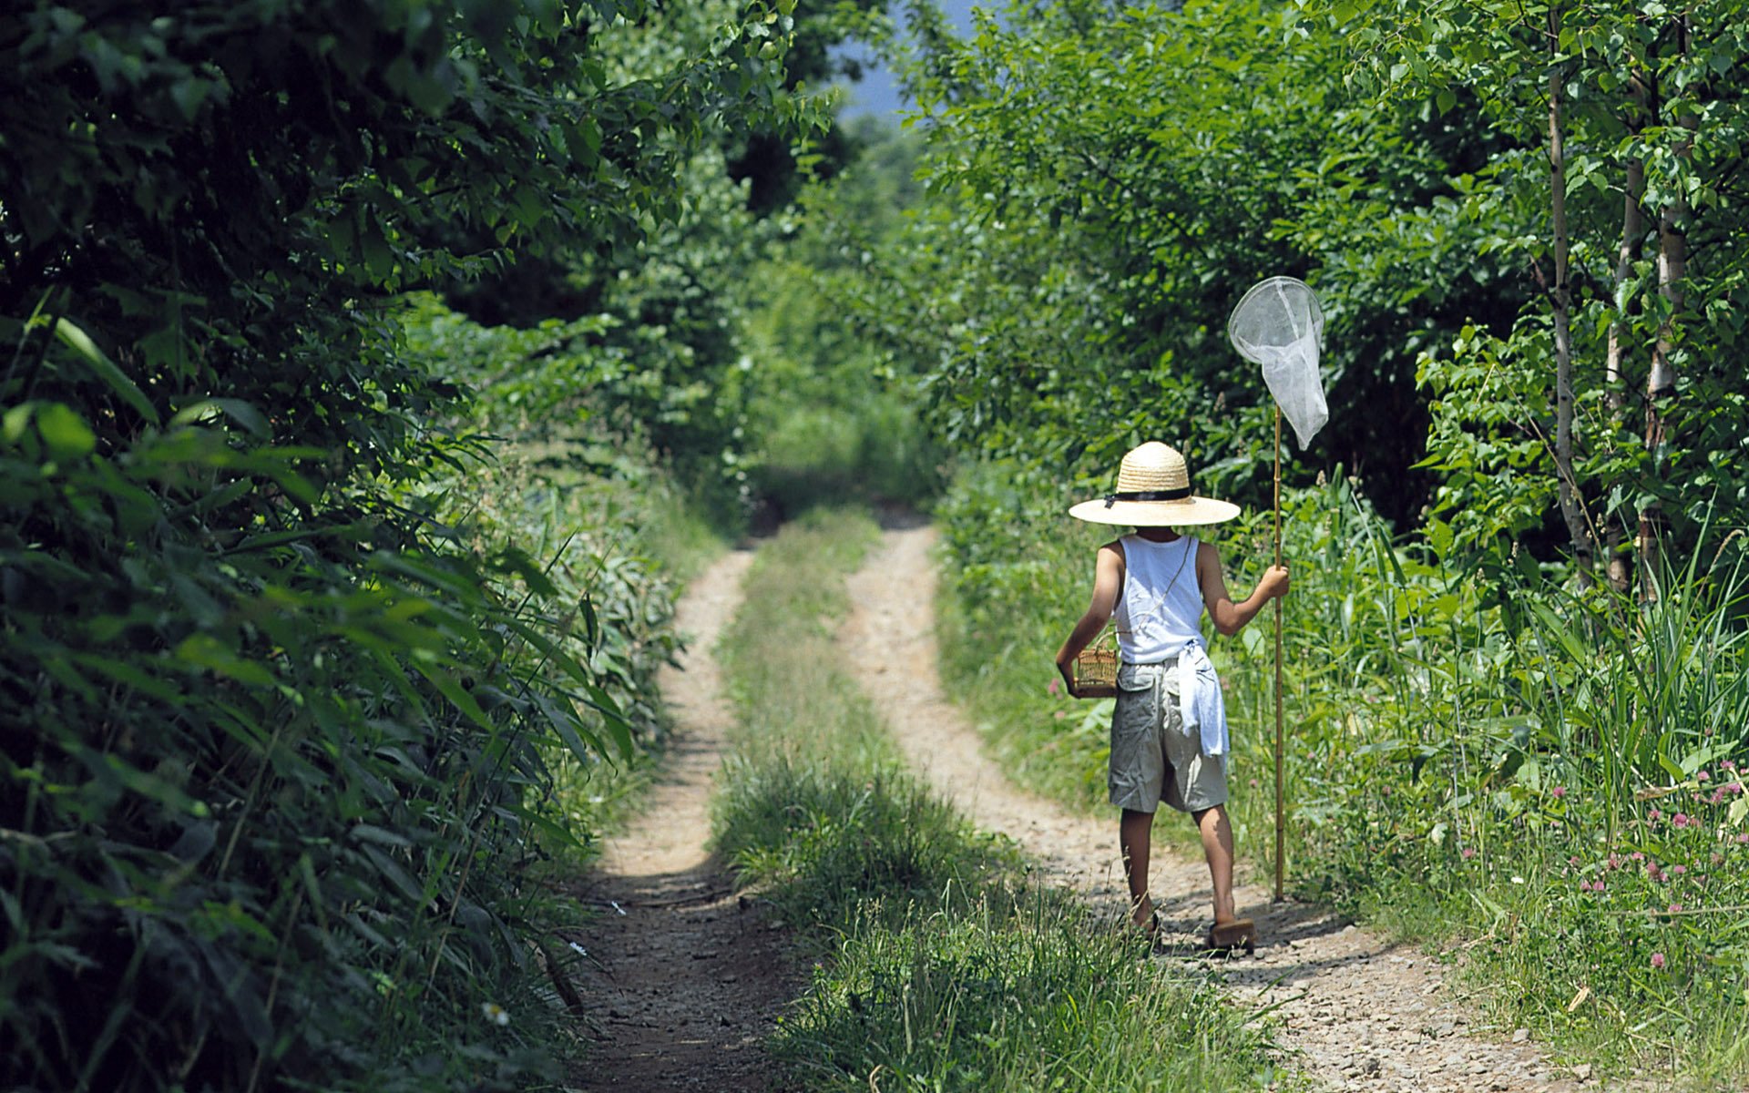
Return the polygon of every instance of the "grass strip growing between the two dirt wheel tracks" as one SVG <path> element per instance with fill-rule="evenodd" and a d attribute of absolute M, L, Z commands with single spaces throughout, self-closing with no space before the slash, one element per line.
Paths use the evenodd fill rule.
<path fill-rule="evenodd" d="M 1293 1083 L 1200 972 L 1025 880 L 908 773 L 838 663 L 874 539 L 815 511 L 761 549 L 721 645 L 740 712 L 717 846 L 813 960 L 773 1051 L 808 1090 L 1256 1090 Z M 1280 1088 L 1280 1084 L 1277 1084 Z"/>

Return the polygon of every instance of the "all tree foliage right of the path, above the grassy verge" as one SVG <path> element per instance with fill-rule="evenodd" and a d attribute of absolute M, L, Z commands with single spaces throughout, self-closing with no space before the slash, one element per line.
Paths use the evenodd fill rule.
<path fill-rule="evenodd" d="M 965 451 L 1069 481 L 1161 435 L 1263 500 L 1268 395 L 1223 322 L 1298 275 L 1324 296 L 1333 414 L 1291 481 L 1347 467 L 1490 563 L 1627 554 L 1642 514 L 1683 553 L 1698 505 L 1746 504 L 1726 362 L 1749 14 L 1660 12 L 1014 5 L 915 59 L 930 198 L 869 327 L 929 364 Z"/>

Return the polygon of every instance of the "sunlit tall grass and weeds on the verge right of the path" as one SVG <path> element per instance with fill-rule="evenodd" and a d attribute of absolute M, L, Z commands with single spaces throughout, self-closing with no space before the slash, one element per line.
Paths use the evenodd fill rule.
<path fill-rule="evenodd" d="M 1641 609 L 1534 572 L 1452 572 L 1394 546 L 1345 483 L 1286 504 L 1291 888 L 1399 937 L 1462 946 L 1485 1013 L 1562 1058 L 1669 1088 L 1740 1088 L 1744 577 L 1693 567 Z M 1104 703 L 1046 687 L 1093 549 L 1039 509 L 1002 469 L 967 476 L 937 509 L 946 665 L 972 714 L 1000 726 L 993 750 L 1011 769 L 1086 804 L 1102 797 Z M 1244 595 L 1268 558 L 1263 523 L 1216 540 Z M 1212 651 L 1254 876 L 1273 867 L 1270 628 L 1265 612 Z"/>

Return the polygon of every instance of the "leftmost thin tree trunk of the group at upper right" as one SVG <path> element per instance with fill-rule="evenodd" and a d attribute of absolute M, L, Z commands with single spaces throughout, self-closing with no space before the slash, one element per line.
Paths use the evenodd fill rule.
<path fill-rule="evenodd" d="M 1560 52 L 1560 5 L 1548 9 L 1550 52 Z M 1595 540 L 1585 512 L 1585 498 L 1572 474 L 1572 289 L 1567 283 L 1567 152 L 1562 147 L 1560 93 L 1567 66 L 1555 63 L 1548 72 L 1548 171 L 1550 227 L 1555 233 L 1555 488 L 1560 516 L 1567 521 L 1574 572 L 1579 584 L 1593 581 Z"/>

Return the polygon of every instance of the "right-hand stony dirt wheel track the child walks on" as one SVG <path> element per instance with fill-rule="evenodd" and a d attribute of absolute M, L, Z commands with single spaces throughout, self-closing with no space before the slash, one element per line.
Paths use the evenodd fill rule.
<path fill-rule="evenodd" d="M 847 661 L 906 754 L 943 792 L 979 827 L 1020 839 L 1051 883 L 1086 894 L 1116 923 L 1125 906 L 1116 818 L 1074 815 L 1011 787 L 941 694 L 932 542 L 925 526 L 890 526 L 852 577 L 855 612 L 840 635 Z M 1154 859 L 1151 888 L 1174 950 L 1167 958 L 1189 958 L 1207 927 L 1207 867 L 1170 852 L 1156 850 Z M 1453 1093 L 1579 1088 L 1574 1074 L 1543 1058 L 1525 1034 L 1480 1028 L 1452 997 L 1443 967 L 1425 953 L 1389 946 L 1317 908 L 1272 904 L 1263 887 L 1242 887 L 1237 895 L 1240 915 L 1258 920 L 1261 946 L 1254 958 L 1224 962 L 1228 988 L 1235 1004 L 1279 1007 L 1287 1062 L 1317 1086 Z"/>

